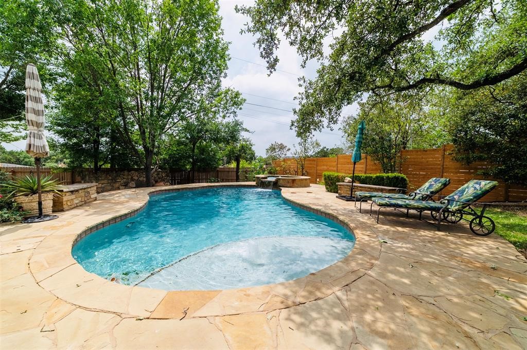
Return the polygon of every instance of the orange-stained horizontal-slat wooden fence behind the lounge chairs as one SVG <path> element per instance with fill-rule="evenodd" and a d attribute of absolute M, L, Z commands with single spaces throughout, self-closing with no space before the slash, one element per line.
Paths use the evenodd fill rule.
<path fill-rule="evenodd" d="M 454 161 L 450 151 L 453 145 L 445 145 L 441 148 L 428 149 L 405 149 L 401 152 L 402 164 L 399 173 L 408 178 L 408 188 L 415 189 L 425 183 L 431 177 L 448 177 L 448 185 L 441 194 L 449 194 L 462 186 L 471 179 L 483 178 L 476 173 L 487 166 L 488 163 L 476 162 L 471 165 L 464 165 Z M 377 174 L 382 173 L 380 165 L 373 161 L 371 157 L 363 154 L 362 161 L 355 166 L 356 174 Z M 280 173 L 289 169 L 294 172 L 297 168 L 295 159 L 284 159 L 274 161 Z M 337 172 L 351 174 L 353 170 L 352 155 L 340 154 L 330 158 L 307 158 L 305 171 L 311 177 L 311 183 L 323 181 L 324 172 Z M 518 185 L 508 185 L 503 181 L 498 181 L 499 185 L 490 194 L 486 195 L 484 201 L 489 202 L 522 202 L 527 200 L 527 188 Z"/>

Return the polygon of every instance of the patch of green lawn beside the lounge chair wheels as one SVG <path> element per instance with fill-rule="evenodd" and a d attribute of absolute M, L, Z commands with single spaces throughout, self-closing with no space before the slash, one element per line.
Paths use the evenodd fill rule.
<path fill-rule="evenodd" d="M 496 235 L 502 236 L 516 248 L 527 251 L 527 216 L 505 208 L 487 209 L 485 215 L 496 223 Z"/>

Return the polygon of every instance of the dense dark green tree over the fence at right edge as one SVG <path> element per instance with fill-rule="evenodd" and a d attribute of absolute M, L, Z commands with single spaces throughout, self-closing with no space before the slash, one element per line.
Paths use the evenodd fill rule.
<path fill-rule="evenodd" d="M 527 185 L 527 74 L 442 101 L 456 160 L 487 162 L 480 174 Z"/>

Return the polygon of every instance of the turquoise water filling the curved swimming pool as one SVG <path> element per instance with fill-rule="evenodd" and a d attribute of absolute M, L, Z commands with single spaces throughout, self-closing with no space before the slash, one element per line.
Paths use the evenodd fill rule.
<path fill-rule="evenodd" d="M 72 254 L 86 271 L 123 284 L 227 289 L 305 276 L 354 243 L 344 227 L 276 190 L 216 187 L 152 196 L 138 215 L 86 236 Z"/>

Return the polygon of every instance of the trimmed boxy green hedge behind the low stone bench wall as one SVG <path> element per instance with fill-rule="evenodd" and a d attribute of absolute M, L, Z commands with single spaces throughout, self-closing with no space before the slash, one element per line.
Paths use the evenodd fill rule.
<path fill-rule="evenodd" d="M 341 174 L 334 172 L 325 172 L 323 174 L 324 185 L 326 191 L 338 193 L 337 183 L 344 182 L 346 177 L 352 177 L 351 174 Z M 355 182 L 364 185 L 376 185 L 406 188 L 408 186 L 408 179 L 405 175 L 399 173 L 388 174 L 355 174 Z"/>

